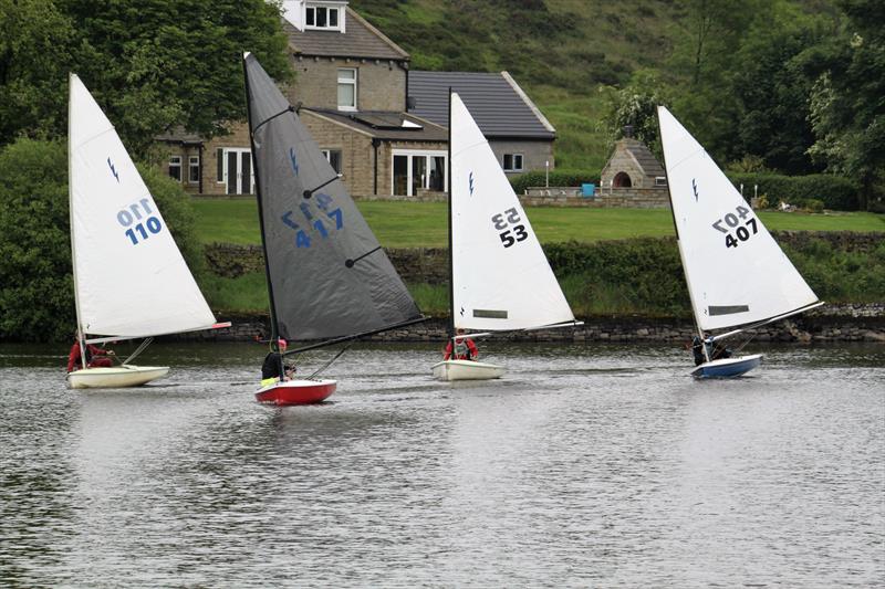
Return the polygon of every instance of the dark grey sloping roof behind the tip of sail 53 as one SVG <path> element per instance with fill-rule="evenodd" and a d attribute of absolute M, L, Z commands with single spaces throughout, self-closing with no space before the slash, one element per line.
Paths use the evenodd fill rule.
<path fill-rule="evenodd" d="M 553 139 L 556 129 L 507 72 L 409 72 L 409 113 L 448 127 L 449 87 L 489 138 Z"/>

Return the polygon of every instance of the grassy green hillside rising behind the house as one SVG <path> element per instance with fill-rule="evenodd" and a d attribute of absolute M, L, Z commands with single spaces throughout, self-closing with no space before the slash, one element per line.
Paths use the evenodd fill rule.
<path fill-rule="evenodd" d="M 412 54 L 414 70 L 509 71 L 556 127 L 561 169 L 604 165 L 612 137 L 603 117 L 612 86 L 623 87 L 637 71 L 673 82 L 695 65 L 691 43 L 698 27 L 708 27 L 722 39 L 732 33 L 740 36 L 753 19 L 769 18 L 763 12 L 772 10 L 772 4 L 754 0 L 745 0 L 739 8 L 693 0 L 351 1 Z M 832 10 L 827 0 L 779 4 L 805 14 Z M 728 21 L 721 27 L 726 32 L 709 28 L 717 19 L 717 25 Z M 723 60 L 730 52 L 716 45 L 720 42 L 725 43 L 720 39 L 707 42 L 719 53 L 708 60 L 708 67 L 728 66 Z"/>

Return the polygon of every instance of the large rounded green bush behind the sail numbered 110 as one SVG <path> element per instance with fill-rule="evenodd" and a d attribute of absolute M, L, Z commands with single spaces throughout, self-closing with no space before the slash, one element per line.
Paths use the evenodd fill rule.
<path fill-rule="evenodd" d="M 200 269 L 189 201 L 179 186 L 140 168 L 191 269 Z M 0 339 L 67 340 L 75 311 L 67 207 L 67 150 L 19 139 L 0 151 Z"/>

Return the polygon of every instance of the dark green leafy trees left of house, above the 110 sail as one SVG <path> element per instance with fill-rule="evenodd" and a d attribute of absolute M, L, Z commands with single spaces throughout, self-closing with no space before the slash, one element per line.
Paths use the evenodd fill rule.
<path fill-rule="evenodd" d="M 64 135 L 67 72 L 134 154 L 176 126 L 212 137 L 246 113 L 241 54 L 291 78 L 279 8 L 264 0 L 0 0 L 0 145 Z"/>

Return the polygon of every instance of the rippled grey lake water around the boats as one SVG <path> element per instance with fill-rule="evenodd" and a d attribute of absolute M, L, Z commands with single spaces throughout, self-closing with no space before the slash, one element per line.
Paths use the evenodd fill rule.
<path fill-rule="evenodd" d="M 0 585 L 885 585 L 885 345 L 697 382 L 675 346 L 486 344 L 510 372 L 466 385 L 437 348 L 352 349 L 275 409 L 253 344 L 95 392 L 0 346 Z"/>

